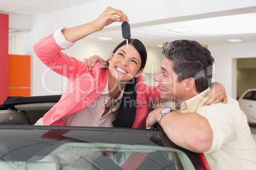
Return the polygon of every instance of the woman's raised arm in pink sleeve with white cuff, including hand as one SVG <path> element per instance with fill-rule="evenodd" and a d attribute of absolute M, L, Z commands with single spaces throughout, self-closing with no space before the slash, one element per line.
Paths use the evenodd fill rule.
<path fill-rule="evenodd" d="M 57 30 L 55 34 L 36 42 L 34 52 L 47 67 L 50 67 L 57 74 L 69 78 L 71 75 L 85 72 L 87 66 L 82 61 L 65 55 L 61 50 L 72 46 L 72 42 L 102 30 L 110 23 L 124 22 L 125 20 L 128 21 L 128 18 L 122 11 L 108 7 L 96 20 L 90 23 L 70 29 Z"/>

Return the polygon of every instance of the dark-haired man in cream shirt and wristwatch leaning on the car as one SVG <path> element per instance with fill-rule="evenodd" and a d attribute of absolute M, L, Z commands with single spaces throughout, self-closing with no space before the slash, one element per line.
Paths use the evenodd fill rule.
<path fill-rule="evenodd" d="M 164 55 L 154 80 L 160 98 L 172 108 L 157 108 L 148 115 L 146 127 L 159 123 L 176 145 L 206 155 L 212 169 L 255 169 L 256 148 L 246 115 L 238 101 L 205 106 L 214 59 L 196 41 L 164 44 Z"/>

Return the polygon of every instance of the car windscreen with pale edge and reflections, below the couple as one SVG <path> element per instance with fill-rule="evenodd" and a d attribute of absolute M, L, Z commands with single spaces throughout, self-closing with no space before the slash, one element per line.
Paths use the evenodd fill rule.
<path fill-rule="evenodd" d="M 180 150 L 147 145 L 66 143 L 48 155 L 57 155 L 69 165 L 82 159 L 83 163 L 104 169 L 195 169 Z"/>

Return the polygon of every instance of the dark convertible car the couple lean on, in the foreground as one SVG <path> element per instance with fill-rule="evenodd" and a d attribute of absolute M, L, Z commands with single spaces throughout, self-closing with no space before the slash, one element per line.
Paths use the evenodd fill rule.
<path fill-rule="evenodd" d="M 32 126 L 60 96 L 8 97 L 0 105 L 0 169 L 210 169 L 203 154 L 151 129 Z"/>

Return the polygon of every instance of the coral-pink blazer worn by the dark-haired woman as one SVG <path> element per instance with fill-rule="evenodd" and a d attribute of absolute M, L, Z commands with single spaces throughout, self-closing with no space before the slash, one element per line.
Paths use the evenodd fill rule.
<path fill-rule="evenodd" d="M 34 44 L 34 52 L 47 67 L 68 77 L 69 83 L 60 100 L 43 117 L 44 125 L 65 126 L 64 119 L 96 100 L 106 86 L 108 69 L 99 64 L 89 71 L 87 65 L 62 53 L 53 34 Z M 137 79 L 137 108 L 132 128 L 146 128 L 150 105 L 159 101 L 159 86 L 148 86 L 141 75 Z M 127 113 L 129 114 L 129 113 Z"/>

